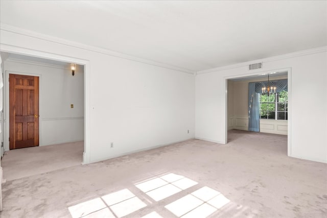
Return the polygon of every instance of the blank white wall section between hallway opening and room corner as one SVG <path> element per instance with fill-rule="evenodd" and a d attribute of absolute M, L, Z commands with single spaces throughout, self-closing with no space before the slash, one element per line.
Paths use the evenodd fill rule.
<path fill-rule="evenodd" d="M 194 75 L 110 56 L 98 61 L 108 65 L 91 72 L 92 160 L 194 138 Z"/>

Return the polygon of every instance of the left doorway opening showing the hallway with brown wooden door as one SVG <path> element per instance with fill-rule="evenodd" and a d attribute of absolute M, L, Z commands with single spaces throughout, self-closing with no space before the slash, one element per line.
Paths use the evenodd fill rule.
<path fill-rule="evenodd" d="M 1 55 L 5 81 L 4 150 L 7 153 L 2 163 L 4 169 L 5 159 L 11 154 L 20 156 L 15 165 L 25 165 L 25 168 L 33 165 L 31 162 L 36 157 L 52 160 L 45 161 L 49 166 L 39 164 L 40 171 L 34 166 L 33 174 L 44 173 L 46 168 L 51 171 L 84 163 L 84 65 L 74 62 L 73 76 L 69 62 L 14 53 L 2 52 Z M 24 152 L 18 151 L 21 148 Z M 33 161 L 29 162 L 29 157 Z"/>

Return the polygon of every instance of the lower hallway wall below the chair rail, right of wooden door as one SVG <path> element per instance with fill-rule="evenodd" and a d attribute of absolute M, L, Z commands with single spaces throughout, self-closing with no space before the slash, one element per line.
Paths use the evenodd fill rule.
<path fill-rule="evenodd" d="M 40 146 L 84 140 L 84 117 L 40 120 Z"/>

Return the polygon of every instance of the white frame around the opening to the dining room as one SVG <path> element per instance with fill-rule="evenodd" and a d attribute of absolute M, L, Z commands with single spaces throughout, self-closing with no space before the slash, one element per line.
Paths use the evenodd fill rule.
<path fill-rule="evenodd" d="M 228 131 L 228 102 L 227 102 L 227 80 L 244 78 L 249 76 L 259 76 L 262 74 L 269 74 L 269 72 L 278 72 L 278 71 L 287 71 L 287 85 L 288 85 L 288 125 L 287 125 L 287 156 L 291 156 L 292 154 L 292 144 L 291 144 L 291 126 L 292 126 L 292 68 L 282 68 L 282 69 L 271 69 L 260 71 L 260 69 L 255 70 L 249 74 L 241 74 L 241 75 L 233 75 L 224 77 L 225 79 L 225 144 L 227 144 L 227 131 Z"/>

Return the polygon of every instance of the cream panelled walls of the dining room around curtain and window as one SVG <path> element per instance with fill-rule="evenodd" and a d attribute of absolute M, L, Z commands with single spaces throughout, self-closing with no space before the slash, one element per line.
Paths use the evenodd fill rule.
<path fill-rule="evenodd" d="M 281 79 L 287 79 L 287 76 L 271 78 L 271 80 Z M 264 80 L 264 78 L 251 78 L 242 81 L 228 80 L 228 130 L 248 130 L 249 82 Z M 260 132 L 287 135 L 287 129 L 287 120 L 260 119 Z"/>

